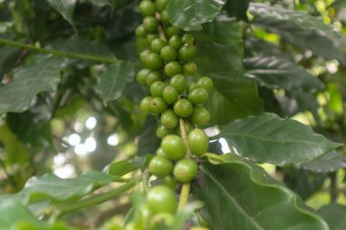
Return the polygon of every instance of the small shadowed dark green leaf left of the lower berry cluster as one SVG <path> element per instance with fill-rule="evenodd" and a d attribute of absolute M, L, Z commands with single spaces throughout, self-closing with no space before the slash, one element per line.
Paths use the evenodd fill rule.
<path fill-rule="evenodd" d="M 160 144 L 160 140 L 156 135 L 157 128 L 157 119 L 152 115 L 148 115 L 146 123 L 144 124 L 144 129 L 139 135 L 137 155 L 148 155 L 156 153 Z"/>

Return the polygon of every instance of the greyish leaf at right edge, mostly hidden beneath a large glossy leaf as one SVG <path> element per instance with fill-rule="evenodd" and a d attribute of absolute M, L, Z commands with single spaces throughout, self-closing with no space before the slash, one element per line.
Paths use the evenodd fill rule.
<path fill-rule="evenodd" d="M 300 168 L 316 172 L 316 173 L 330 173 L 338 169 L 346 168 L 346 157 L 338 154 L 336 151 L 331 151 L 321 158 L 304 163 Z"/>

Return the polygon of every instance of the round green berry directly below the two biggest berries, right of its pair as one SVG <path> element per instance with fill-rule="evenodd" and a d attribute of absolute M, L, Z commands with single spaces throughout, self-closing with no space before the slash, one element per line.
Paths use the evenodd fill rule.
<path fill-rule="evenodd" d="M 173 175 L 181 183 L 190 182 L 198 173 L 198 165 L 194 160 L 181 159 L 174 165 Z"/>

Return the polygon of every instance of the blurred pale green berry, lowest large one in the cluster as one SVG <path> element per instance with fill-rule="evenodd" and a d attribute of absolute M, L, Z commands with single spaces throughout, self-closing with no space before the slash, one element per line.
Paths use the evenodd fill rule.
<path fill-rule="evenodd" d="M 168 212 L 174 214 L 177 210 L 177 197 L 166 185 L 151 188 L 147 195 L 147 204 L 152 213 Z"/>

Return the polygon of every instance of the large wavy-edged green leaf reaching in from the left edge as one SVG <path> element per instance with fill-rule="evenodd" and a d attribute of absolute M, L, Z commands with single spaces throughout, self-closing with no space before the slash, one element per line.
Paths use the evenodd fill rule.
<path fill-rule="evenodd" d="M 54 56 L 37 55 L 29 65 L 18 67 L 10 83 L 0 84 L 0 115 L 23 112 L 36 94 L 55 90 L 62 63 Z"/>

